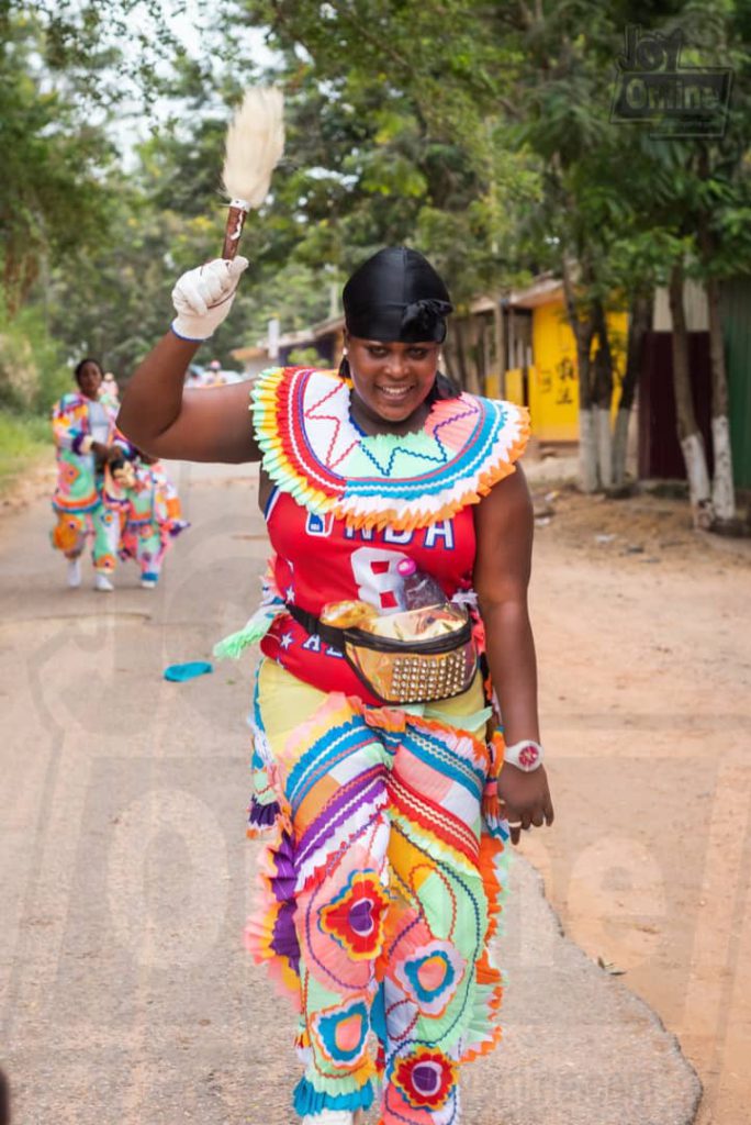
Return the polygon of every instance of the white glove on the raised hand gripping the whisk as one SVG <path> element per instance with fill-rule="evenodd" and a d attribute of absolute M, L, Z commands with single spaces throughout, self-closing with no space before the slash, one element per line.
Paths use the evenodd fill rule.
<path fill-rule="evenodd" d="M 247 258 L 215 258 L 183 273 L 172 290 L 177 316 L 172 331 L 181 340 L 208 340 L 232 308 Z"/>

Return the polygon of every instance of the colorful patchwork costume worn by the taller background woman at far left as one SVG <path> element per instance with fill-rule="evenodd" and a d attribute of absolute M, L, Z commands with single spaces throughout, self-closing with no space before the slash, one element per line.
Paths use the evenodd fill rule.
<path fill-rule="evenodd" d="M 94 568 L 111 574 L 119 526 L 116 514 L 105 504 L 105 470 L 97 465 L 91 446 L 94 440 L 112 441 L 115 418 L 102 403 L 72 392 L 54 406 L 52 430 L 57 456 L 57 487 L 52 501 L 57 524 L 52 544 L 74 559 L 91 538 Z"/>

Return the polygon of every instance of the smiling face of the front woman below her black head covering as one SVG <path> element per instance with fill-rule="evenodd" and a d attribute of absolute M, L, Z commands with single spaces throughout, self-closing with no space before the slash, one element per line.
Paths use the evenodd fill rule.
<path fill-rule="evenodd" d="M 346 338 L 352 412 L 367 433 L 406 433 L 422 425 L 438 369 L 440 345 Z"/>

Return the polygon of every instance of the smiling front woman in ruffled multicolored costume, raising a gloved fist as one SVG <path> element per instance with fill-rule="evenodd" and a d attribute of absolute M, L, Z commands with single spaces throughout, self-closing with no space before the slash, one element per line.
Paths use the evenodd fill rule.
<path fill-rule="evenodd" d="M 338 371 L 264 372 L 252 425 L 242 386 L 183 397 L 245 266 L 180 279 L 172 334 L 134 376 L 120 424 L 159 456 L 262 459 L 275 556 L 261 610 L 225 650 L 262 638 L 250 822 L 271 842 L 247 944 L 300 1014 L 295 1107 L 306 1125 L 351 1125 L 380 1077 L 381 1125 L 454 1125 L 461 1064 L 499 1037 L 504 848 L 553 819 L 526 609 L 533 521 L 515 471 L 527 420 L 438 374 L 449 294 L 404 248 L 347 282 Z M 384 703 L 319 619 L 346 601 L 388 619 L 405 558 L 452 604 L 474 604 L 482 656 L 459 694 Z"/>

